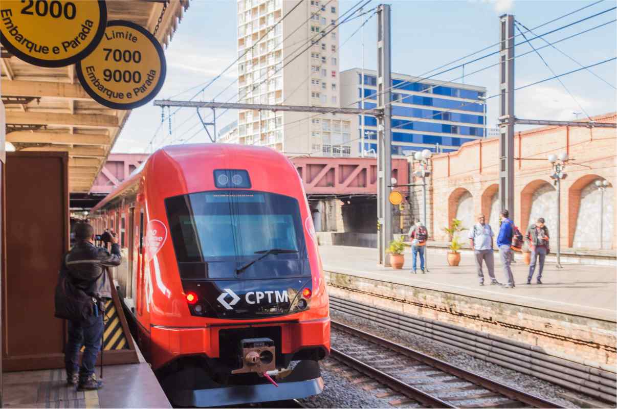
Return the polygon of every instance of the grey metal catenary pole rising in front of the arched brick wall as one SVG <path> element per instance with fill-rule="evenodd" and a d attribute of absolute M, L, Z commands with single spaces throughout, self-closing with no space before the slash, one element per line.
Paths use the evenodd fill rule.
<path fill-rule="evenodd" d="M 514 220 L 514 16 L 499 17 L 499 201 Z"/>

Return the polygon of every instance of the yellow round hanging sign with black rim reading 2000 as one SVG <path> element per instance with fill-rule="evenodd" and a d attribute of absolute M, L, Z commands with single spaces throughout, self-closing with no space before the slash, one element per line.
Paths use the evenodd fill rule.
<path fill-rule="evenodd" d="M 96 48 L 107 24 L 105 0 L 2 0 L 0 41 L 40 67 L 75 64 Z"/>

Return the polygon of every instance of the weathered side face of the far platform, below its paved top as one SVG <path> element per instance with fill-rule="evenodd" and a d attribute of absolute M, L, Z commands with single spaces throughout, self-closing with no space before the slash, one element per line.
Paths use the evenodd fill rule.
<path fill-rule="evenodd" d="M 615 365 L 615 321 L 326 271 L 329 294 Z"/>

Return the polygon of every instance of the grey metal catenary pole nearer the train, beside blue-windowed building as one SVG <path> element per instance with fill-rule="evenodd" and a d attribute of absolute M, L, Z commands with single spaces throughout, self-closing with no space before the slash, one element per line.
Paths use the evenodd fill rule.
<path fill-rule="evenodd" d="M 379 5 L 377 16 L 377 105 L 383 109 L 377 122 L 378 248 L 379 263 L 389 266 L 386 248 L 392 240 L 392 205 L 388 201 L 392 178 L 390 6 Z"/>

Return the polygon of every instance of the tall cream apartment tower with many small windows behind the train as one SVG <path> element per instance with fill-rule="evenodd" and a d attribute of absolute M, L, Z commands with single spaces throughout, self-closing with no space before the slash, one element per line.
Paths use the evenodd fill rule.
<path fill-rule="evenodd" d="M 296 4 L 238 0 L 238 56 L 256 44 L 238 61 L 239 102 L 341 106 L 339 30 L 323 36 L 337 24 L 338 1 L 307 0 L 290 12 Z M 351 120 L 344 115 L 241 110 L 238 131 L 229 130 L 219 141 L 269 146 L 288 154 L 349 155 Z"/>

